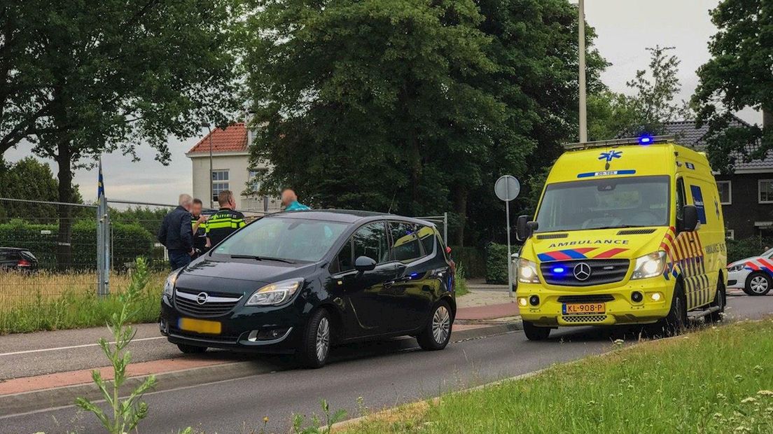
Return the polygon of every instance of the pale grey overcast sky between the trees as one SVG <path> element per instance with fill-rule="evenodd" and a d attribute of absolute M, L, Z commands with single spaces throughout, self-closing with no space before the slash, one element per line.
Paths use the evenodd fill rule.
<path fill-rule="evenodd" d="M 612 66 L 602 75 L 604 83 L 618 92 L 628 92 L 625 82 L 636 70 L 649 63 L 649 46 L 675 46 L 673 53 L 682 60 L 679 79 L 681 97 L 689 99 L 698 83 L 695 70 L 709 59 L 707 42 L 715 29 L 708 11 L 718 0 L 585 0 L 585 15 L 598 33 L 596 46 Z M 760 122 L 751 110 L 741 113 L 744 120 Z M 205 134 L 206 131 L 202 132 Z M 172 162 L 162 166 L 149 147 L 138 147 L 141 161 L 120 154 L 103 158 L 105 190 L 108 198 L 175 203 L 180 192 L 191 190 L 191 163 L 185 153 L 199 141 L 170 141 Z M 29 155 L 29 146 L 6 152 L 5 159 L 16 161 Z M 55 164 L 49 161 L 54 173 Z M 79 170 L 75 181 L 87 201 L 97 194 L 96 170 Z"/>

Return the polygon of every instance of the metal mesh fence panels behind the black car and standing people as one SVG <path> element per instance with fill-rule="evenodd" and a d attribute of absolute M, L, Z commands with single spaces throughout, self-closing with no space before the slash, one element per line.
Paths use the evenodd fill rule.
<path fill-rule="evenodd" d="M 169 262 L 156 234 L 175 205 L 107 203 L 100 215 L 97 205 L 0 198 L 0 307 L 120 292 L 138 256 L 148 259 L 159 284 Z M 250 220 L 266 213 L 244 214 Z M 448 239 L 447 215 L 419 218 L 437 225 Z M 100 240 L 100 233 L 107 239 Z"/>

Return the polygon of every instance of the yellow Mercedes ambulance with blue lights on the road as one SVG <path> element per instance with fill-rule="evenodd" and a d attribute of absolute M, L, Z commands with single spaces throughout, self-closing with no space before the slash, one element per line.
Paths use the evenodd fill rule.
<path fill-rule="evenodd" d="M 530 220 L 517 290 L 533 341 L 564 326 L 653 324 L 676 333 L 724 311 L 727 253 L 703 153 L 673 137 L 566 145 Z"/>

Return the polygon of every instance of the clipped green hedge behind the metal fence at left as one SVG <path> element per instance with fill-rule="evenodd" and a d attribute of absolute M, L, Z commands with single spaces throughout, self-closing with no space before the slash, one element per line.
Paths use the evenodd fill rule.
<path fill-rule="evenodd" d="M 48 233 L 41 233 L 41 232 Z M 113 265 L 121 268 L 137 256 L 153 257 L 155 237 L 136 223 L 112 224 Z M 56 269 L 56 237 L 59 225 L 43 225 L 14 219 L 0 223 L 0 246 L 29 249 L 39 260 L 41 269 Z M 94 270 L 97 266 L 97 222 L 80 220 L 73 223 L 70 240 L 73 260 L 67 268 L 71 270 Z"/>

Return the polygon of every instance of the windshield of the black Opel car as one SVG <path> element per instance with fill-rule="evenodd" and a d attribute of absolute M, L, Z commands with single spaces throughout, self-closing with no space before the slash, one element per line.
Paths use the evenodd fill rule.
<path fill-rule="evenodd" d="M 234 233 L 213 253 L 315 262 L 325 256 L 347 226 L 339 222 L 266 217 Z"/>

